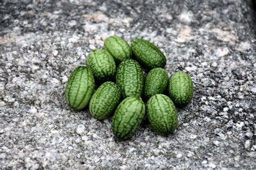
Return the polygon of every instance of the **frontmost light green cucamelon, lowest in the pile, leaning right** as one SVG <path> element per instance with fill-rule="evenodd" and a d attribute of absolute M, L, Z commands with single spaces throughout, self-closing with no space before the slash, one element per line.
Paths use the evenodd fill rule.
<path fill-rule="evenodd" d="M 127 97 L 117 107 L 112 131 L 119 139 L 130 138 L 139 128 L 145 115 L 145 104 L 138 97 Z"/>

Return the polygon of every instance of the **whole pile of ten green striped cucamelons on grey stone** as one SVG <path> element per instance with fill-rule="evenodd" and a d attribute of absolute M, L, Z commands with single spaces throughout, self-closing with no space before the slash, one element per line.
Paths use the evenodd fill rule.
<path fill-rule="evenodd" d="M 73 110 L 89 104 L 92 117 L 99 120 L 114 113 L 112 132 L 119 139 L 130 138 L 145 114 L 152 129 L 167 136 L 178 125 L 176 107 L 183 108 L 192 100 L 193 82 L 184 72 L 174 73 L 169 80 L 165 65 L 165 55 L 149 41 L 135 39 L 130 47 L 120 37 L 108 37 L 104 49 L 87 56 L 87 67 L 79 66 L 71 73 L 66 103 Z M 141 66 L 149 71 L 145 83 Z M 114 77 L 116 83 L 110 81 Z M 102 83 L 96 91 L 95 82 Z M 166 89 L 170 98 L 163 94 Z"/>

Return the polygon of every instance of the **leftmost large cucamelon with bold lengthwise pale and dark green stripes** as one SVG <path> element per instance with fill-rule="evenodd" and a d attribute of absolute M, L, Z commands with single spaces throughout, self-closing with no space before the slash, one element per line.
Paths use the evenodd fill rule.
<path fill-rule="evenodd" d="M 65 100 L 74 110 L 82 110 L 89 103 L 95 88 L 91 70 L 79 66 L 71 73 L 65 88 Z"/>

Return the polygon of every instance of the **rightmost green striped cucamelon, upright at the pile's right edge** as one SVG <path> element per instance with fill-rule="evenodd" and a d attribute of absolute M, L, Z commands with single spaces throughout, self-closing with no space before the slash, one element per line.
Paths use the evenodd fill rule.
<path fill-rule="evenodd" d="M 169 94 L 176 107 L 186 107 L 193 97 L 193 82 L 190 76 L 184 72 L 173 74 L 169 82 Z"/>

